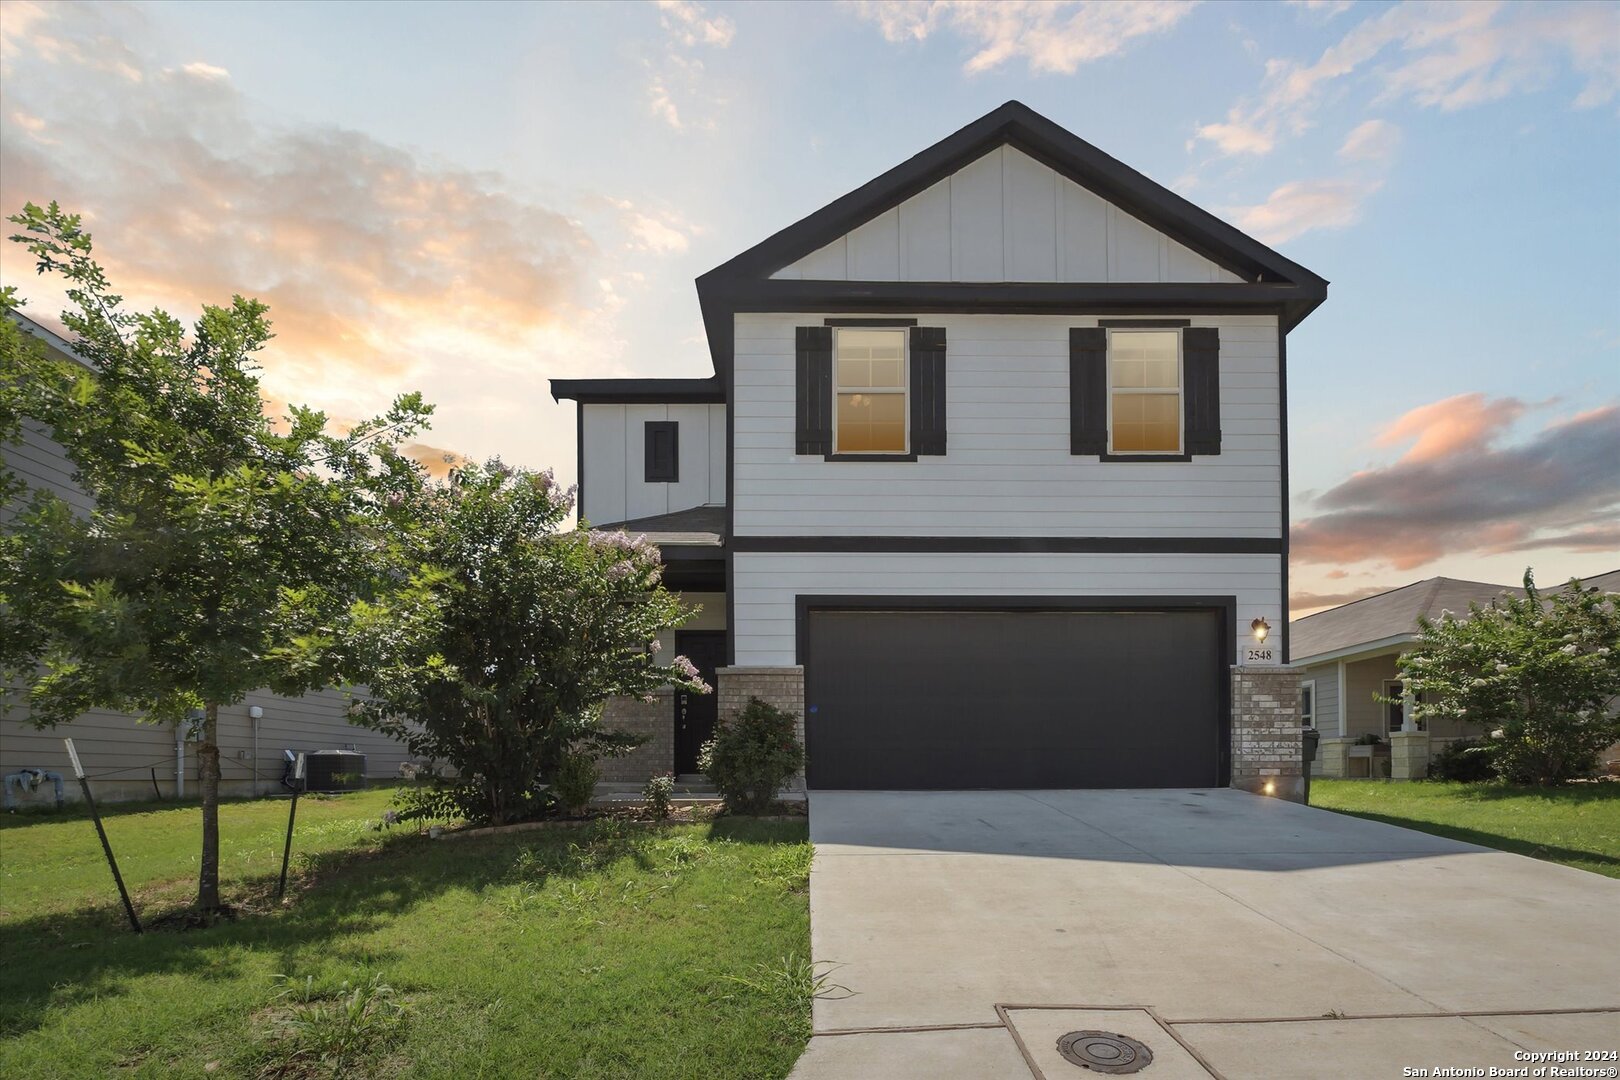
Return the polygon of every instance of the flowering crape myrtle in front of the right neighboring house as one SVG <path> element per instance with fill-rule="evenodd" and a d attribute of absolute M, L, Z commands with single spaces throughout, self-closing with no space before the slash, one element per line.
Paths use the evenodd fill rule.
<path fill-rule="evenodd" d="M 1571 580 L 1544 596 L 1524 572 L 1524 596 L 1466 619 L 1424 619 L 1400 657 L 1419 716 L 1479 725 L 1497 772 L 1521 784 L 1558 784 L 1591 772 L 1620 742 L 1620 597 Z"/>

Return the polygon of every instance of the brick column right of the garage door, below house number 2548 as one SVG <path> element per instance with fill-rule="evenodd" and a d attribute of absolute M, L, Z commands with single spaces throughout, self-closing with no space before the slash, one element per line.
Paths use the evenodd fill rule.
<path fill-rule="evenodd" d="M 1231 669 L 1231 785 L 1304 800 L 1299 738 L 1299 672 Z M 1272 790 L 1265 792 L 1270 784 Z"/>

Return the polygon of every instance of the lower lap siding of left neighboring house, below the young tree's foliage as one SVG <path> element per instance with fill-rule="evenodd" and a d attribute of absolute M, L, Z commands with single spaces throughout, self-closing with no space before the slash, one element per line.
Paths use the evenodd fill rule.
<path fill-rule="evenodd" d="M 254 722 L 249 706 L 264 709 L 258 721 L 258 756 L 254 758 Z M 355 727 L 343 717 L 347 696 L 340 690 L 324 690 L 303 698 L 279 698 L 251 693 L 246 701 L 220 709 L 219 746 L 222 785 L 227 795 L 253 795 L 280 790 L 282 750 L 358 750 L 366 755 L 366 774 L 377 779 L 397 777 L 405 746 L 386 735 Z M 28 724 L 28 711 L 15 709 L 0 719 L 0 774 L 18 769 L 60 772 L 68 797 L 78 798 L 68 755 L 62 745 L 73 738 L 84 771 L 94 777 L 97 798 L 151 798 L 156 772 L 164 798 L 175 793 L 175 729 L 168 724 L 143 724 L 122 712 L 86 712 L 71 724 L 36 730 Z M 258 779 L 254 779 L 258 763 Z M 186 745 L 185 790 L 198 793 L 196 743 Z M 49 803 L 50 787 L 40 787 L 24 801 Z"/>

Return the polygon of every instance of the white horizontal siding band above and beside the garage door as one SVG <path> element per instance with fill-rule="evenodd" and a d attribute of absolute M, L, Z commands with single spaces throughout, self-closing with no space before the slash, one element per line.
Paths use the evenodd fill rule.
<path fill-rule="evenodd" d="M 1277 555 L 804 554 L 732 555 L 735 664 L 797 664 L 800 594 L 1234 596 L 1238 627 L 1281 612 Z M 1241 649 L 1247 643 L 1236 643 Z M 1238 654 L 1233 656 L 1238 662 Z"/>

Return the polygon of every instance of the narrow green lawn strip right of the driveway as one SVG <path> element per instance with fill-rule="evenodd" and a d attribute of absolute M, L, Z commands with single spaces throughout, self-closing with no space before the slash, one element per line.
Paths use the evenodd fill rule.
<path fill-rule="evenodd" d="M 1311 780 L 1311 805 L 1620 878 L 1620 784 Z"/>

